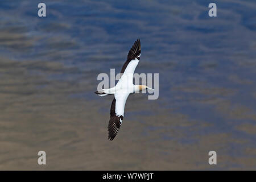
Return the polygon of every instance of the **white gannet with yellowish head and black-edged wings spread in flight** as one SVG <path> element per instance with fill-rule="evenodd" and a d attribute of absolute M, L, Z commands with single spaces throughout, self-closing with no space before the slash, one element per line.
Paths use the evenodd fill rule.
<path fill-rule="evenodd" d="M 94 92 L 98 94 L 98 96 L 114 95 L 114 99 L 110 108 L 110 120 L 108 125 L 108 139 L 110 141 L 115 138 L 120 129 L 123 121 L 123 114 L 125 112 L 125 103 L 129 94 L 139 93 L 139 91 L 145 89 L 154 90 L 146 85 L 133 84 L 133 74 L 139 63 L 140 57 L 141 40 L 137 39 L 128 53 L 125 64 L 123 64 L 121 70 L 122 76 L 117 84 L 113 88 L 102 89 Z"/>

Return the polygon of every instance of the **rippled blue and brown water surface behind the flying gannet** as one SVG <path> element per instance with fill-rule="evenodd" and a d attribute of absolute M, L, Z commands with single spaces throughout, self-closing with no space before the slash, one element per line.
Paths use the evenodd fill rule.
<path fill-rule="evenodd" d="M 46 18 L 0 2 L 0 169 L 256 169 L 255 1 L 217 2 L 217 18 L 205 0 L 44 3 Z M 159 98 L 129 96 L 109 142 L 97 75 L 137 38 Z"/>

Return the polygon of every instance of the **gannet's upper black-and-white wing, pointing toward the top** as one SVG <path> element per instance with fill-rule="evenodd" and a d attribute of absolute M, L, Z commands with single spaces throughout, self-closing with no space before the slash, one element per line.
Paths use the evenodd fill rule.
<path fill-rule="evenodd" d="M 125 71 L 129 73 L 134 73 L 134 70 L 139 62 L 139 57 L 141 57 L 141 40 L 137 39 L 128 53 L 127 60 L 125 64 L 123 64 L 121 73 L 125 73 Z"/>

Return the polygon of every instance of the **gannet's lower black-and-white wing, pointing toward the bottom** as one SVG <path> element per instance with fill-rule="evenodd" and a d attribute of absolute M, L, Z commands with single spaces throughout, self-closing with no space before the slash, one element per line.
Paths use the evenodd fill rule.
<path fill-rule="evenodd" d="M 120 126 L 123 121 L 123 113 L 125 112 L 125 103 L 129 93 L 115 94 L 115 98 L 112 101 L 110 109 L 110 120 L 109 120 L 109 140 L 113 140 L 117 135 Z"/>

